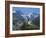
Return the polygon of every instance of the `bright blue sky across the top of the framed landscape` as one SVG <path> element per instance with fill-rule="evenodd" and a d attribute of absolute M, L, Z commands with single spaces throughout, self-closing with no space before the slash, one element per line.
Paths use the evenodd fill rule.
<path fill-rule="evenodd" d="M 20 11 L 21 13 L 35 13 L 40 14 L 40 8 L 27 8 L 27 7 L 13 7 L 13 11 Z"/>

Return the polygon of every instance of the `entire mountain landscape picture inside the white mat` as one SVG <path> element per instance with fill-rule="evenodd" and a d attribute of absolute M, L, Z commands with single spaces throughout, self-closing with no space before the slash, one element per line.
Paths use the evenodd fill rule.
<path fill-rule="evenodd" d="M 13 7 L 13 25 L 14 29 L 39 29 L 40 9 L 39 8 L 26 8 L 26 7 Z M 28 27 L 28 26 L 29 27 Z M 26 27 L 25 27 L 26 26 Z"/>

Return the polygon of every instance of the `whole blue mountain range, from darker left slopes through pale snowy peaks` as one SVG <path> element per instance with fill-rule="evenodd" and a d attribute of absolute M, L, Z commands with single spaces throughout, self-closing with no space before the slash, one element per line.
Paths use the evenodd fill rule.
<path fill-rule="evenodd" d="M 33 20 L 37 18 L 39 15 L 35 13 L 28 13 L 28 14 L 23 14 L 21 12 L 13 13 L 13 17 L 18 18 L 18 19 L 25 19 L 25 20 Z"/>

